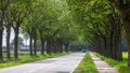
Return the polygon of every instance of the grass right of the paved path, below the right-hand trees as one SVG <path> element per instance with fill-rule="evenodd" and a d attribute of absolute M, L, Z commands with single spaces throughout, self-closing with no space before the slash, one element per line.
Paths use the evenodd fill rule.
<path fill-rule="evenodd" d="M 113 60 L 110 58 L 106 58 L 104 56 L 101 56 L 100 54 L 95 55 L 98 57 L 100 57 L 102 60 L 104 60 L 105 62 L 107 62 L 109 65 L 114 67 L 115 69 L 117 69 L 119 71 L 119 73 L 130 73 L 130 68 L 127 65 L 128 63 L 128 53 L 122 53 L 122 58 L 123 60 L 117 61 L 117 60 Z"/>

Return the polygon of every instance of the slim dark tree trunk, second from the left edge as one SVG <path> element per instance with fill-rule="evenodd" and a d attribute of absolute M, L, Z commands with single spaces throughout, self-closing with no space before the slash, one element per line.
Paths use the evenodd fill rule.
<path fill-rule="evenodd" d="M 11 35 L 11 25 L 6 26 L 6 58 L 10 59 L 10 35 Z"/>

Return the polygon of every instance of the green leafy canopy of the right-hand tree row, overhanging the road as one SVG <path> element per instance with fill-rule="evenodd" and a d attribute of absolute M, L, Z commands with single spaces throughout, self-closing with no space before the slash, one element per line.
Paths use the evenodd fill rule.
<path fill-rule="evenodd" d="M 94 35 L 105 35 L 106 29 L 110 29 L 107 15 L 110 5 L 107 0 L 67 0 L 70 15 L 82 40 L 92 42 Z"/>

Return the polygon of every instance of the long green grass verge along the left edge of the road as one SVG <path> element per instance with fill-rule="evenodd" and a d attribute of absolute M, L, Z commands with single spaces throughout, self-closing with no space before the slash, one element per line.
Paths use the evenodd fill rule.
<path fill-rule="evenodd" d="M 14 67 L 14 65 L 18 65 L 18 64 L 24 64 L 24 63 L 29 63 L 29 62 L 35 62 L 35 61 L 39 61 L 39 60 L 44 60 L 44 59 L 49 59 L 49 58 L 55 58 L 55 57 L 60 57 L 63 55 L 67 55 L 70 53 L 62 53 L 62 54 L 51 54 L 51 55 L 38 55 L 38 56 L 32 56 L 30 57 L 29 55 L 22 55 L 20 56 L 18 59 L 3 59 L 0 60 L 0 69 L 3 68 L 9 68 L 9 67 Z"/>

